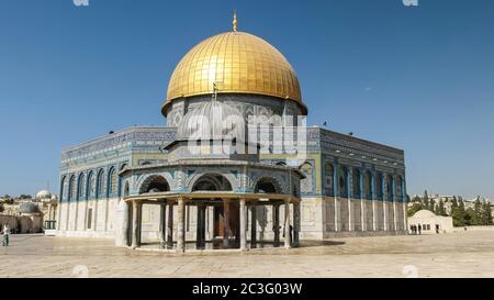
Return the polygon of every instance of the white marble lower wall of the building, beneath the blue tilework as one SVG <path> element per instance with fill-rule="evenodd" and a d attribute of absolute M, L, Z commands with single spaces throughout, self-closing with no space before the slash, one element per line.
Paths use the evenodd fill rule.
<path fill-rule="evenodd" d="M 301 202 L 301 240 L 322 240 L 333 236 L 359 236 L 401 234 L 405 230 L 403 203 L 386 202 L 386 223 L 384 223 L 383 201 L 370 201 L 345 198 L 303 198 Z M 374 208 L 373 205 L 374 204 Z M 91 227 L 88 229 L 88 212 L 92 208 Z M 116 245 L 122 245 L 124 202 L 121 199 L 101 199 L 88 202 L 61 203 L 59 205 L 59 236 L 108 237 L 115 238 Z M 168 207 L 167 207 L 168 209 Z M 157 204 L 143 205 L 142 242 L 159 241 L 160 208 Z M 290 205 L 291 224 L 293 225 L 293 205 Z M 375 214 L 373 213 L 375 211 Z M 396 212 L 396 229 L 394 213 Z M 349 214 L 351 213 L 351 215 Z M 363 213 L 363 223 L 362 223 Z M 77 214 L 77 222 L 76 222 Z M 177 236 L 177 209 L 173 209 L 173 240 Z M 68 218 L 67 218 L 68 216 Z M 166 212 L 168 218 L 168 211 Z M 250 210 L 247 210 L 247 237 L 250 240 Z M 205 215 L 206 240 L 214 234 L 214 209 L 209 207 Z M 284 205 L 280 205 L 280 236 L 284 220 Z M 351 220 L 351 223 L 350 223 Z M 375 222 L 375 231 L 374 231 Z M 77 229 L 76 229 L 77 224 Z M 94 224 L 97 225 L 94 229 Z M 363 226 L 362 226 L 363 224 Z M 273 211 L 271 205 L 257 207 L 257 240 L 272 240 Z M 385 227 L 384 227 L 385 226 Z M 186 238 L 195 240 L 197 207 L 186 209 Z"/>

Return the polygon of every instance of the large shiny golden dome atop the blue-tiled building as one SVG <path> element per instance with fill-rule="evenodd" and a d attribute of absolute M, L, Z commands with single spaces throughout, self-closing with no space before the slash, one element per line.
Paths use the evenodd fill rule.
<path fill-rule="evenodd" d="M 284 56 L 265 40 L 245 32 L 226 32 L 195 45 L 177 65 L 168 86 L 167 107 L 173 99 L 213 93 L 254 93 L 296 101 L 299 79 Z"/>

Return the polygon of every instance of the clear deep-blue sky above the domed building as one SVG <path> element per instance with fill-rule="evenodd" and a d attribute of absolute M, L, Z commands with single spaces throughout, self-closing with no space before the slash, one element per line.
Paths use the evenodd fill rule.
<path fill-rule="evenodd" d="M 234 9 L 291 62 L 311 124 L 405 149 L 408 193 L 494 196 L 492 0 L 0 0 L 0 193 L 57 191 L 63 147 L 165 124 L 173 67 Z"/>

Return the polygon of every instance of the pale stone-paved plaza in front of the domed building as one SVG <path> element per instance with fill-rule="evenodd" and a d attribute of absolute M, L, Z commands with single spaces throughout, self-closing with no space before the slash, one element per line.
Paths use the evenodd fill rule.
<path fill-rule="evenodd" d="M 494 231 L 334 238 L 301 248 L 188 252 L 11 235 L 1 277 L 494 277 Z"/>

